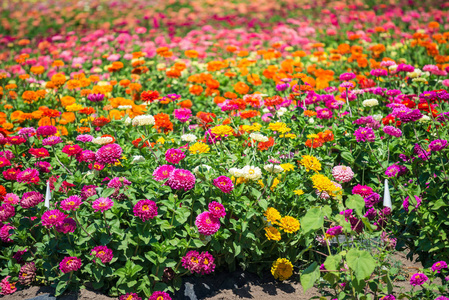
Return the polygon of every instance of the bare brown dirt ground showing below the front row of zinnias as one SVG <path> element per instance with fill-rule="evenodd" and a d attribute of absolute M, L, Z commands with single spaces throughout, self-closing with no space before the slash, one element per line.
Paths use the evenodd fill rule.
<path fill-rule="evenodd" d="M 411 262 L 405 257 L 405 253 L 397 253 L 393 260 L 402 264 L 402 274 L 406 277 L 406 281 L 396 282 L 395 290 L 409 290 L 408 274 L 413 274 L 422 267 L 420 263 Z M 4 300 L 28 300 L 37 296 L 44 296 L 38 300 L 55 299 L 45 295 L 53 295 L 53 289 L 50 287 L 30 287 L 21 291 L 17 291 L 13 295 L 1 297 Z M 259 276 L 243 271 L 233 273 L 221 273 L 206 277 L 187 277 L 183 288 L 177 293 L 173 299 L 186 300 L 231 300 L 231 299 L 296 299 L 308 300 L 314 296 L 321 296 L 317 288 L 312 288 L 304 294 L 301 285 L 298 282 L 298 275 L 292 277 L 292 280 L 278 282 L 273 280 L 270 273 L 264 274 L 262 278 Z M 71 293 L 61 297 L 60 300 L 108 300 L 116 299 L 96 293 L 95 291 L 82 289 L 78 294 Z M 145 299 L 143 299 L 145 300 Z"/>

